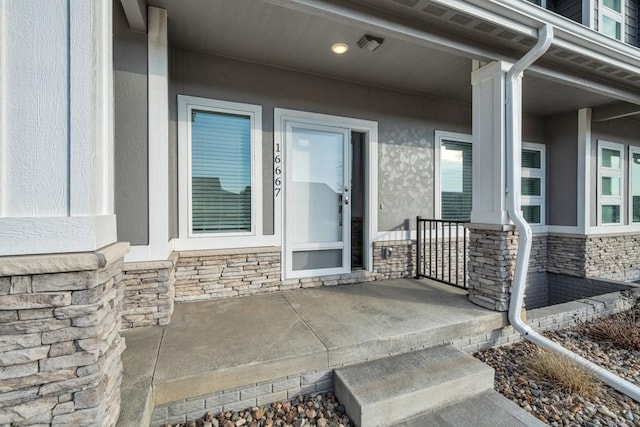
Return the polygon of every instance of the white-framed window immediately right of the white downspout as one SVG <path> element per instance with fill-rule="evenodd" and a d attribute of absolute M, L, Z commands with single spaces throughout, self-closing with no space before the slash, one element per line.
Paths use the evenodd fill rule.
<path fill-rule="evenodd" d="M 545 223 L 545 146 L 523 143 L 520 203 L 524 219 L 531 225 Z"/>

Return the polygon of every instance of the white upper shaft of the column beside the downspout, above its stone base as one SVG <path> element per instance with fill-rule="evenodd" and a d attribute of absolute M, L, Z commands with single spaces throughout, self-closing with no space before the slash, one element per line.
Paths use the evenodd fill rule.
<path fill-rule="evenodd" d="M 471 73 L 473 87 L 473 198 L 471 223 L 508 224 L 505 202 L 505 76 L 496 61 Z"/>

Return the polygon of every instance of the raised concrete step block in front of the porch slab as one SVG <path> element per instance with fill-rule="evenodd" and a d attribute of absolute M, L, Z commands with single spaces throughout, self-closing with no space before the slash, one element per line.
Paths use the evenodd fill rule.
<path fill-rule="evenodd" d="M 334 371 L 336 396 L 360 427 L 393 425 L 493 389 L 493 368 L 451 346 Z"/>

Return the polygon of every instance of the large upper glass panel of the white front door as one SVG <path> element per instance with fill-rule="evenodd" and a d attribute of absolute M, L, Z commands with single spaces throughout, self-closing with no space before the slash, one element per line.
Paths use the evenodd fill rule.
<path fill-rule="evenodd" d="M 291 148 L 292 242 L 342 241 L 343 134 L 294 129 Z"/>

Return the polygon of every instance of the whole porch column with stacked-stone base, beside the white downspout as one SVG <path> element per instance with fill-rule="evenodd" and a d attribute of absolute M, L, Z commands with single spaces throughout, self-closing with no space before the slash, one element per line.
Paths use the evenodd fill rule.
<path fill-rule="evenodd" d="M 517 239 L 506 205 L 505 77 L 497 61 L 471 74 L 473 199 L 469 229 L 469 300 L 496 311 L 509 307 Z"/>

